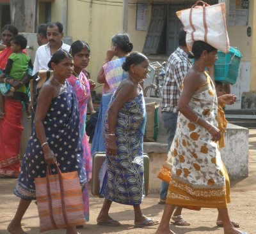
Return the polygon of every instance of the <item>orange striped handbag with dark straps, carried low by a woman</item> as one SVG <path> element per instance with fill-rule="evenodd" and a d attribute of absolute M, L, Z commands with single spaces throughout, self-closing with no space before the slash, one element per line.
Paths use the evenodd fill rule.
<path fill-rule="evenodd" d="M 51 175 L 47 165 L 46 177 L 36 178 L 36 201 L 40 231 L 83 225 L 84 205 L 77 171 Z"/>

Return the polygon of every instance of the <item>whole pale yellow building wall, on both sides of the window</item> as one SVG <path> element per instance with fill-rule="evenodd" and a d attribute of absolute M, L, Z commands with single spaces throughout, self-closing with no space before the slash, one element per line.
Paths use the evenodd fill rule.
<path fill-rule="evenodd" d="M 154 0 L 154 3 L 161 0 Z M 227 5 L 228 5 L 228 0 Z M 137 0 L 130 0 L 127 3 L 127 33 L 134 45 L 134 50 L 141 52 L 147 31 L 136 30 L 136 3 Z M 148 25 L 150 24 L 152 0 L 141 0 L 140 2 L 148 3 Z M 178 1 L 180 3 L 180 1 Z M 188 1 L 186 1 L 188 2 Z M 191 1 L 191 3 L 194 1 Z M 59 20 L 65 26 L 67 36 L 72 36 L 73 41 L 85 40 L 91 47 L 92 62 L 88 67 L 88 71 L 92 73 L 93 80 L 96 80 L 97 73 L 104 62 L 106 50 L 108 50 L 113 34 L 122 31 L 122 1 L 118 6 L 107 6 L 107 2 L 100 4 L 98 1 L 86 3 L 75 0 L 55 0 L 52 3 L 52 21 Z M 168 3 L 177 3 L 177 1 L 169 1 Z M 237 84 L 232 85 L 232 92 L 236 93 L 238 100 L 241 99 L 242 92 L 256 91 L 256 4 L 250 0 L 248 26 L 252 27 L 252 36 L 246 36 L 248 26 L 228 26 L 228 35 L 230 45 L 237 47 L 243 54 L 241 66 L 239 68 L 239 77 Z M 115 17 L 113 17 L 115 15 Z M 154 59 L 153 59 L 154 60 Z M 158 58 L 159 60 L 159 58 Z M 160 59 L 161 60 L 161 59 Z M 97 92 L 100 92 L 98 89 Z M 240 108 L 241 103 L 237 102 L 231 108 Z"/>

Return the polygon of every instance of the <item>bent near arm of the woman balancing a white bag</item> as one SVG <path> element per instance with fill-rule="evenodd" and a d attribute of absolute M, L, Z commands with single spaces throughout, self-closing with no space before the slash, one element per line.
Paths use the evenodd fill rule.
<path fill-rule="evenodd" d="M 202 118 L 198 119 L 198 114 L 189 106 L 189 101 L 191 100 L 196 89 L 201 84 L 204 84 L 205 77 L 200 75 L 195 71 L 189 71 L 184 80 L 184 89 L 180 95 L 178 102 L 178 110 L 181 112 L 189 121 L 196 122 L 203 128 L 207 129 L 212 135 L 212 140 L 218 141 L 221 137 L 220 131 L 218 128 L 212 126 L 209 122 L 205 121 Z"/>

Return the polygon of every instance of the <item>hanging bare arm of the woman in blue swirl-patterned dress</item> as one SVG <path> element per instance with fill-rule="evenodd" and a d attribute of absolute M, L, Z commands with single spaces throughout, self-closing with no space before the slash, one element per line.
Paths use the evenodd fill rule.
<path fill-rule="evenodd" d="M 122 106 L 125 105 L 127 101 L 131 101 L 137 95 L 137 87 L 134 86 L 128 80 L 124 80 L 118 90 L 116 90 L 115 100 L 113 101 L 112 105 L 109 107 L 108 111 L 108 125 L 109 125 L 109 134 L 115 134 L 116 128 L 116 121 L 118 111 Z M 108 155 L 115 156 L 117 154 L 117 147 L 116 147 L 116 137 L 109 136 L 108 148 L 107 148 Z"/>

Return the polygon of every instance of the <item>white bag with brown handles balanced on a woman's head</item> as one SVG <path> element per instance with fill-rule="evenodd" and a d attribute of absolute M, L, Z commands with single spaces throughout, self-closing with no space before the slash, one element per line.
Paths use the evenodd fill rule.
<path fill-rule="evenodd" d="M 197 1 L 192 8 L 177 11 L 176 14 L 187 33 L 186 43 L 189 51 L 194 41 L 204 41 L 223 53 L 228 53 L 225 3 L 210 6 L 204 1 Z"/>

